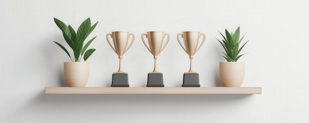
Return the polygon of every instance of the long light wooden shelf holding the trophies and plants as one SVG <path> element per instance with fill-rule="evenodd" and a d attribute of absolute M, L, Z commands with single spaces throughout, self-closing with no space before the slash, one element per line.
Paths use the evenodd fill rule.
<path fill-rule="evenodd" d="M 262 94 L 261 87 L 46 87 L 45 94 Z"/>

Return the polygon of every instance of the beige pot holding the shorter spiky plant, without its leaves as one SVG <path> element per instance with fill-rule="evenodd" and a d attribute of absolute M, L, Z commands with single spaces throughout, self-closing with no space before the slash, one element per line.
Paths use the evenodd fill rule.
<path fill-rule="evenodd" d="M 220 62 L 219 73 L 224 87 L 240 87 L 244 78 L 244 62 Z"/>

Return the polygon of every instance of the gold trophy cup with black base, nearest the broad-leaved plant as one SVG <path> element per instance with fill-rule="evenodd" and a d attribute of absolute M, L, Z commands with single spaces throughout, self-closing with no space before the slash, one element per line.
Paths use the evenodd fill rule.
<path fill-rule="evenodd" d="M 108 36 L 111 36 L 111 38 L 113 39 L 114 47 L 110 43 Z M 132 41 L 129 47 L 127 47 L 130 36 L 132 36 Z M 115 53 L 118 55 L 118 58 L 119 58 L 119 68 L 117 72 L 113 73 L 111 87 L 129 87 L 128 73 L 122 71 L 121 59 L 122 59 L 122 55 L 125 54 L 129 50 L 129 48 L 132 46 L 134 42 L 134 37 L 135 36 L 133 33 L 120 32 L 120 31 L 114 31 L 112 32 L 112 34 L 108 33 L 106 35 L 108 44 L 115 51 Z"/>

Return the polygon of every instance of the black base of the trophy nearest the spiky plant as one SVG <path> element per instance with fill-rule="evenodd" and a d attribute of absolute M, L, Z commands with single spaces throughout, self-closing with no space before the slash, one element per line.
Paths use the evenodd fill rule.
<path fill-rule="evenodd" d="M 200 87 L 198 73 L 184 73 L 182 87 Z"/>

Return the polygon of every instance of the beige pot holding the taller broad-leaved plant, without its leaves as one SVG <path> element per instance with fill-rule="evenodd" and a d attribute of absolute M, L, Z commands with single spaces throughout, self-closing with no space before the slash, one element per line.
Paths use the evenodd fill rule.
<path fill-rule="evenodd" d="M 65 62 L 64 73 L 69 87 L 85 87 L 89 78 L 89 63 Z"/>

